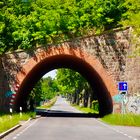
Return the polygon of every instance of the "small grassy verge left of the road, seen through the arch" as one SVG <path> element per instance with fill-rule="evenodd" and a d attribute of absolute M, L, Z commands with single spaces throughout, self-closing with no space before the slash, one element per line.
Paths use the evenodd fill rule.
<path fill-rule="evenodd" d="M 52 107 L 55 104 L 56 100 L 57 100 L 57 97 L 51 99 L 45 105 L 38 106 L 37 109 L 49 109 L 50 107 Z"/>

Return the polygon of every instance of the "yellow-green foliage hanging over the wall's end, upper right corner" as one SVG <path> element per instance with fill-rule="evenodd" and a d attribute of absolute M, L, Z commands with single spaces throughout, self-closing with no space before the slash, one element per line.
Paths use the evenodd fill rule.
<path fill-rule="evenodd" d="M 132 45 L 134 45 L 133 56 L 140 56 L 140 0 L 125 0 L 124 6 L 127 11 L 123 14 L 121 24 L 133 27 Z"/>

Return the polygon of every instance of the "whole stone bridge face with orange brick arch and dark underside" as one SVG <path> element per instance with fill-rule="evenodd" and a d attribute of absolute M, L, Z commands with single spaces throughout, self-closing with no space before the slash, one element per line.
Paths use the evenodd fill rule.
<path fill-rule="evenodd" d="M 0 110 L 24 108 L 34 84 L 50 70 L 65 67 L 78 71 L 88 80 L 99 100 L 100 113 L 111 113 L 111 97 L 118 94 L 117 82 L 126 80 L 129 39 L 130 28 L 127 28 L 3 55 Z"/>

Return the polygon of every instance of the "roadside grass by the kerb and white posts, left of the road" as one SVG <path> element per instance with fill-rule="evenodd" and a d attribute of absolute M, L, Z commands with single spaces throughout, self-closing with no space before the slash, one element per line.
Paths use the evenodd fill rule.
<path fill-rule="evenodd" d="M 29 118 L 34 118 L 34 112 L 22 113 L 20 114 L 13 114 L 12 117 L 10 115 L 1 115 L 0 116 L 0 133 L 18 125 L 20 121 L 26 121 Z"/>

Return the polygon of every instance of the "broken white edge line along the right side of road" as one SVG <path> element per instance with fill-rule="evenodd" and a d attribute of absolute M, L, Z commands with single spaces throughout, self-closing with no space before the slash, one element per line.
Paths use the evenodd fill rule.
<path fill-rule="evenodd" d="M 115 129 L 115 128 L 113 128 L 113 127 L 111 127 L 111 126 L 109 126 L 109 125 L 107 125 L 107 124 L 105 124 L 105 123 L 103 123 L 103 122 L 101 122 L 101 121 L 99 121 L 99 120 L 97 120 L 97 119 L 95 119 L 95 121 L 99 122 L 99 123 L 102 124 L 103 126 L 109 128 L 109 129 L 111 129 L 111 130 L 113 130 L 113 131 L 115 131 L 115 132 L 117 132 L 117 133 L 120 133 L 120 134 L 122 134 L 122 135 L 128 137 L 129 139 L 138 140 L 138 139 L 136 139 L 136 138 L 134 138 L 134 137 L 132 137 L 132 136 L 129 136 L 128 134 L 123 133 L 122 131 L 120 131 L 120 130 L 118 130 L 118 129 Z"/>

